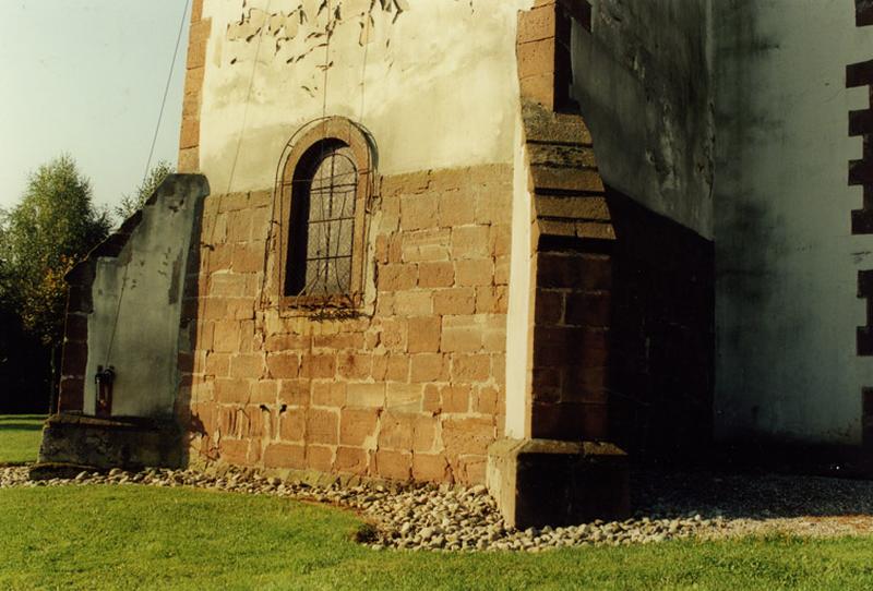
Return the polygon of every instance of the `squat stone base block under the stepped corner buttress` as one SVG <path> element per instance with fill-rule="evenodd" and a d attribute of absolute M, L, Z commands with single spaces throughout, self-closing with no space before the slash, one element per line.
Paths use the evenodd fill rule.
<path fill-rule="evenodd" d="M 609 443 L 500 439 L 488 490 L 506 527 L 575 526 L 631 512 L 627 455 Z"/>

